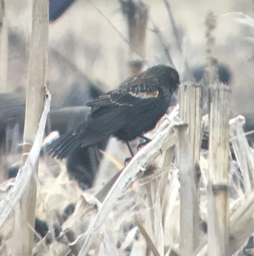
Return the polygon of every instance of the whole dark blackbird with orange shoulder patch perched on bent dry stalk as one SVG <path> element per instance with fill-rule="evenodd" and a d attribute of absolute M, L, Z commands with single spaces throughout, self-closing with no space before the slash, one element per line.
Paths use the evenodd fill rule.
<path fill-rule="evenodd" d="M 119 88 L 89 102 L 88 119 L 48 146 L 49 154 L 65 158 L 77 147 L 87 147 L 113 135 L 126 142 L 155 127 L 166 113 L 179 85 L 178 72 L 169 66 L 148 68 L 120 84 Z"/>

